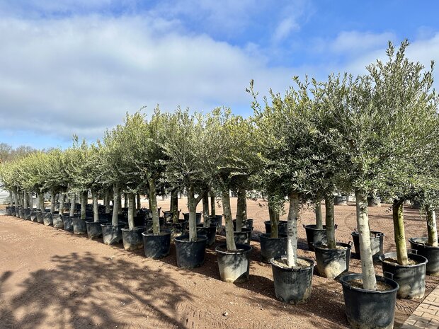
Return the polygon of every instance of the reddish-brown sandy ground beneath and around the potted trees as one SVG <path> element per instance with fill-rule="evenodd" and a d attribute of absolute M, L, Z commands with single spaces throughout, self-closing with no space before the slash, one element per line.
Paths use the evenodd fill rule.
<path fill-rule="evenodd" d="M 265 231 L 268 218 L 260 203 L 248 202 L 255 233 Z M 159 207 L 167 210 L 169 202 L 160 200 Z M 388 205 L 369 210 L 371 229 L 386 234 L 385 251 L 394 250 Z M 313 222 L 314 214 L 304 209 L 300 224 Z M 426 234 L 417 210 L 406 209 L 405 223 L 407 238 Z M 338 241 L 350 241 L 353 203 L 336 206 L 336 224 Z M 299 233 L 299 254 L 314 258 L 302 225 Z M 224 238 L 217 236 L 220 241 Z M 1 216 L 0 328 L 348 328 L 341 284 L 314 275 L 311 301 L 284 304 L 275 299 L 271 267 L 261 262 L 259 243 L 251 246 L 249 282 L 228 284 L 220 280 L 215 246 L 207 249 L 202 267 L 183 270 L 176 266 L 173 245 L 169 257 L 149 260 L 142 250 L 127 252 L 101 239 Z M 382 274 L 380 265 L 376 270 Z M 351 260 L 350 271 L 360 272 L 359 260 Z M 426 294 L 438 284 L 439 278 L 428 277 Z M 396 328 L 420 302 L 397 301 Z"/>

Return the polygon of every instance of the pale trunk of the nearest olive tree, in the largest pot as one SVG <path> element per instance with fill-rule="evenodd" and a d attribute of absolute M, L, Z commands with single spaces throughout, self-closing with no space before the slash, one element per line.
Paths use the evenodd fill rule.
<path fill-rule="evenodd" d="M 363 288 L 377 289 L 377 279 L 373 268 L 372 250 L 370 249 L 369 215 L 367 214 L 367 194 L 355 191 L 357 203 L 357 227 L 360 240 L 361 272 L 363 273 Z"/>

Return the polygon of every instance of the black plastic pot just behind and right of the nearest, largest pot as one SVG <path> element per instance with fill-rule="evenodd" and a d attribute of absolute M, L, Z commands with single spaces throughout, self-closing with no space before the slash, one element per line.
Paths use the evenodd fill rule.
<path fill-rule="evenodd" d="M 416 265 L 399 265 L 396 262 L 387 262 L 387 258 L 397 258 L 397 253 L 384 253 L 380 255 L 382 272 L 392 273 L 394 281 L 398 282 L 398 298 L 421 298 L 426 292 L 426 265 L 427 258 L 408 254 L 410 260 L 418 262 Z"/>

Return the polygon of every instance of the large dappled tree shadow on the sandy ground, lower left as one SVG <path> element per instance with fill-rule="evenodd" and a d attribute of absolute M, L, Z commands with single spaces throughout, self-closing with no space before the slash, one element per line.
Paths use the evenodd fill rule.
<path fill-rule="evenodd" d="M 193 296 L 166 270 L 117 258 L 98 259 L 90 252 L 55 255 L 50 265 L 50 270 L 30 272 L 11 301 L 0 306 L 1 328 L 30 329 L 47 323 L 51 328 L 185 326 L 178 308 Z M 0 278 L 0 296 L 8 277 L 11 272 Z"/>

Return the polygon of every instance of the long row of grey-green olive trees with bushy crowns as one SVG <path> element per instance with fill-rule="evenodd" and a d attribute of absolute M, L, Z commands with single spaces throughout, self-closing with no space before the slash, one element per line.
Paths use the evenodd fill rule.
<path fill-rule="evenodd" d="M 353 190 L 363 284 L 375 289 L 368 195 L 394 200 L 398 262 L 407 262 L 402 211 L 406 199 L 425 205 L 429 243 L 437 245 L 439 122 L 433 63 L 431 70 L 425 70 L 410 62 L 404 55 L 407 45 L 402 42 L 395 51 L 389 44 L 387 62 L 370 64 L 363 76 L 331 75 L 325 82 L 295 78 L 295 85 L 284 94 L 270 91 L 270 98 L 262 101 L 252 81 L 248 91 L 254 98 L 254 115 L 247 119 L 227 108 L 205 115 L 180 108 L 173 113 L 157 108 L 149 118 L 141 111 L 127 115 L 124 124 L 108 130 L 102 141 L 88 145 L 75 139 L 65 151 L 37 152 L 4 163 L 1 180 L 15 204 L 24 207 L 30 192 L 79 194 L 85 205 L 91 190 L 93 204 L 101 195 L 107 206 L 113 195 L 114 225 L 119 196 L 125 192 L 130 229 L 135 195 L 149 195 L 154 233 L 160 231 L 156 195 L 173 195 L 171 212 L 176 220 L 175 196 L 185 189 L 191 241 L 197 239 L 197 204 L 204 200 L 208 214 L 207 198 L 215 195 L 222 199 L 228 250 L 236 250 L 229 190 L 239 196 L 238 230 L 246 219 L 246 191 L 259 190 L 268 197 L 273 236 L 284 205 L 289 204 L 289 267 L 297 262 L 300 204 L 325 201 L 328 246 L 333 248 L 333 195 Z"/>

